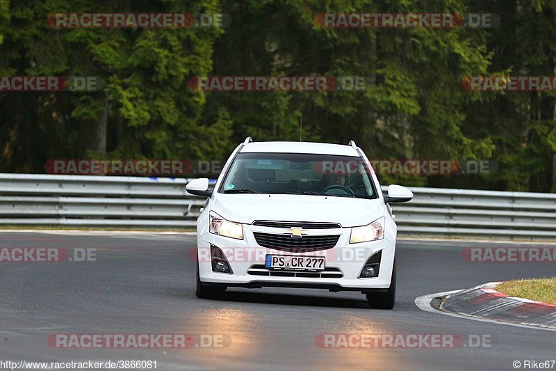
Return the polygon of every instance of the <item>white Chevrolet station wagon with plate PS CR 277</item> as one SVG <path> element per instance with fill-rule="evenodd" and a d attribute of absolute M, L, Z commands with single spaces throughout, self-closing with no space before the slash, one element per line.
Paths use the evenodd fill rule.
<path fill-rule="evenodd" d="M 238 145 L 214 187 L 186 186 L 208 199 L 197 219 L 197 290 L 227 287 L 324 288 L 366 294 L 371 308 L 395 303 L 397 227 L 361 148 L 306 142 Z"/>

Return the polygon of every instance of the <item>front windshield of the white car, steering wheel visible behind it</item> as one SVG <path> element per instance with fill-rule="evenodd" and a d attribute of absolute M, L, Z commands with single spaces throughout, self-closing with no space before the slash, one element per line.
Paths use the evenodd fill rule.
<path fill-rule="evenodd" d="M 377 198 L 360 157 L 304 153 L 239 153 L 219 192 Z"/>

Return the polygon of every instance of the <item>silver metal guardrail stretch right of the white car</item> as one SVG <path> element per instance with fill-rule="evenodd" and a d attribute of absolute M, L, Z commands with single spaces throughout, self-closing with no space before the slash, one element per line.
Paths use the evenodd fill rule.
<path fill-rule="evenodd" d="M 410 189 L 393 205 L 400 235 L 556 240 L 556 194 Z"/>

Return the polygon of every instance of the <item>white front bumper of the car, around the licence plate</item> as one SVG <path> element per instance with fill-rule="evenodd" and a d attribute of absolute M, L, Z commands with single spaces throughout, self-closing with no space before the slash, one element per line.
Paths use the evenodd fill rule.
<path fill-rule="evenodd" d="M 230 287 L 306 287 L 330 291 L 383 292 L 390 287 L 395 256 L 395 235 L 384 239 L 349 244 L 351 228 L 311 230 L 317 235 L 340 235 L 336 246 L 311 253 L 291 253 L 265 248 L 256 243 L 253 232 L 283 233 L 280 228 L 244 225 L 244 239 L 231 239 L 208 232 L 197 235 L 199 278 L 207 285 Z M 233 274 L 214 272 L 211 265 L 211 244 L 222 250 Z M 382 251 L 379 274 L 373 278 L 358 278 L 371 255 Z M 265 265 L 265 255 L 320 255 L 326 258 L 326 267 L 340 271 L 341 277 L 315 278 L 290 276 L 255 276 L 248 272 L 253 266 Z"/>

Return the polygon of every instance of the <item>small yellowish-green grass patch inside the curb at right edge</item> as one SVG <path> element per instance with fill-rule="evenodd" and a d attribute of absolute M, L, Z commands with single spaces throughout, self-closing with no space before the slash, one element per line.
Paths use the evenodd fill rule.
<path fill-rule="evenodd" d="M 556 277 L 509 281 L 496 286 L 495 290 L 510 297 L 556 304 Z"/>

